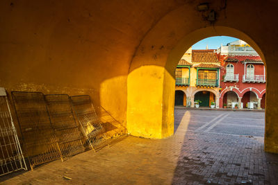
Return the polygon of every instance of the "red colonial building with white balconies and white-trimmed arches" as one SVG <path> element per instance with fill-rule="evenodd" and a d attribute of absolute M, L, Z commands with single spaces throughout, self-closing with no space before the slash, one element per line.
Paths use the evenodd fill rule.
<path fill-rule="evenodd" d="M 265 66 L 254 49 L 237 40 L 218 50 L 221 62 L 220 107 L 265 107 Z"/>

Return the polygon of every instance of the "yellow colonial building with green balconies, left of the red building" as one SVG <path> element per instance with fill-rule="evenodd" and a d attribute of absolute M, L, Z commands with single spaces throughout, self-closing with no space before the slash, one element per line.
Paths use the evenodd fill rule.
<path fill-rule="evenodd" d="M 176 69 L 175 105 L 219 107 L 220 62 L 216 50 L 192 50 L 183 55 Z"/>

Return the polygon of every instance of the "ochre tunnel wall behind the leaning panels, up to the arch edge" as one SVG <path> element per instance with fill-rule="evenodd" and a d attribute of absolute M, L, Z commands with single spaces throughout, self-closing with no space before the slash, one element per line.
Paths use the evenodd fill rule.
<path fill-rule="evenodd" d="M 1 87 L 8 94 L 89 94 L 96 107 L 104 107 L 117 120 L 117 127 L 126 127 L 133 54 L 158 19 L 181 5 L 140 3 L 1 1 Z M 98 112 L 103 115 L 100 108 Z"/>

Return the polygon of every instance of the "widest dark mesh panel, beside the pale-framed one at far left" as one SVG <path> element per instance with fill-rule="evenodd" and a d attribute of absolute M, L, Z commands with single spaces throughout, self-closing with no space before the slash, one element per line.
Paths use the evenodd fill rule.
<path fill-rule="evenodd" d="M 51 125 L 47 105 L 42 93 L 13 91 L 24 152 L 33 167 L 61 158 L 58 140 Z"/>

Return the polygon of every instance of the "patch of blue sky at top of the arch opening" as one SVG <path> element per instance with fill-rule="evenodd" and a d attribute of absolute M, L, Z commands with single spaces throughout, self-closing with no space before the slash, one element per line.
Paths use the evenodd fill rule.
<path fill-rule="evenodd" d="M 225 46 L 227 43 L 235 40 L 237 40 L 237 38 L 227 36 L 208 37 L 194 44 L 192 49 L 206 49 L 206 45 L 208 45 L 208 49 L 217 49 L 217 47 L 220 47 L 221 44 Z"/>

